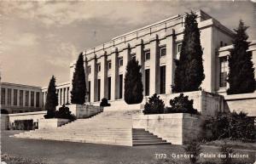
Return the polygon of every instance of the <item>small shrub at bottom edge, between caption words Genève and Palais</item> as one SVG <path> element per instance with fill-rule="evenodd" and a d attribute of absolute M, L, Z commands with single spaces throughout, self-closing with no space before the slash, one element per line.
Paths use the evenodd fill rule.
<path fill-rule="evenodd" d="M 198 161 L 198 157 L 201 153 L 201 144 L 193 139 L 184 147 L 184 150 L 189 154 L 189 161 L 194 164 Z"/>

